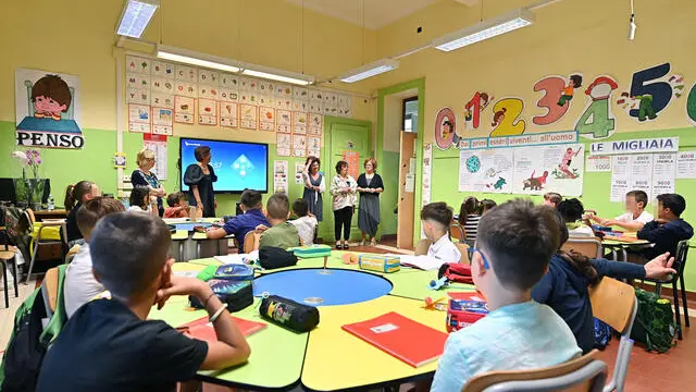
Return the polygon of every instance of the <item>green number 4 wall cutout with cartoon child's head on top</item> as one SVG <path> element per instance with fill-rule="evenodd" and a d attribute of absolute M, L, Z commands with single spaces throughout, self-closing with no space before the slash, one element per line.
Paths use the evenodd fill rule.
<path fill-rule="evenodd" d="M 617 81 L 611 76 L 601 75 L 585 89 L 585 95 L 589 98 L 587 107 L 575 123 L 577 134 L 592 139 L 606 138 L 613 135 L 617 121 L 611 112 L 611 94 L 619 87 Z"/>

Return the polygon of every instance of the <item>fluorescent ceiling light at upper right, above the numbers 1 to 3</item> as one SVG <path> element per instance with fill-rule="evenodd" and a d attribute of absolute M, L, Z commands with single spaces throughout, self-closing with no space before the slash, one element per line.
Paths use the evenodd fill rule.
<path fill-rule="evenodd" d="M 435 39 L 432 45 L 442 51 L 451 51 L 529 26 L 532 23 L 534 23 L 534 14 L 524 9 L 520 9 L 447 34 Z"/>

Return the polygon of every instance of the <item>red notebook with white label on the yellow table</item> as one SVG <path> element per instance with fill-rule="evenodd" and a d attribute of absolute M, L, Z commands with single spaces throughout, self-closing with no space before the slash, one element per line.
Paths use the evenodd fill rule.
<path fill-rule="evenodd" d="M 413 367 L 439 358 L 447 341 L 447 333 L 395 311 L 341 328 Z"/>

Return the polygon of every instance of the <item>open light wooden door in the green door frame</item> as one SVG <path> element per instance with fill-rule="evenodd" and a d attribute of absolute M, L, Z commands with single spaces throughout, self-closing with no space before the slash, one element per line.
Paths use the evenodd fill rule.
<path fill-rule="evenodd" d="M 414 133 L 401 132 L 399 149 L 399 203 L 397 213 L 396 246 L 413 247 L 413 222 L 415 204 L 415 136 Z"/>

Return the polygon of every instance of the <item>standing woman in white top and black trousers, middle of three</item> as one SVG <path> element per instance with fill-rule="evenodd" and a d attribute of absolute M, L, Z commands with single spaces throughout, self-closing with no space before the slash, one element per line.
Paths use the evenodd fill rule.
<path fill-rule="evenodd" d="M 336 249 L 348 249 L 350 238 L 350 221 L 352 209 L 356 206 L 356 180 L 348 175 L 348 162 L 336 163 L 336 175 L 331 181 L 331 194 L 334 197 L 334 230 L 336 232 Z M 340 243 L 340 230 L 344 231 L 343 245 Z"/>

